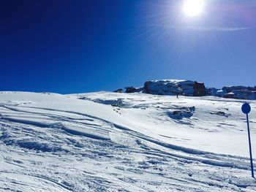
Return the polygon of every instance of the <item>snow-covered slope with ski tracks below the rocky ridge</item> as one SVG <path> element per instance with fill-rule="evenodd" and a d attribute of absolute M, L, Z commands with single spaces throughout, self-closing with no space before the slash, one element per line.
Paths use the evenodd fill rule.
<path fill-rule="evenodd" d="M 0 191 L 256 191 L 243 102 L 0 92 Z"/>

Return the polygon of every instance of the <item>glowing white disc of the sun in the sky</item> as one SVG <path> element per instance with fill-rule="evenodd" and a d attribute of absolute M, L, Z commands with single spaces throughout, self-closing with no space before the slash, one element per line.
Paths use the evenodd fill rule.
<path fill-rule="evenodd" d="M 186 0 L 183 4 L 183 11 L 189 17 L 195 17 L 203 12 L 204 7 L 204 0 Z"/>

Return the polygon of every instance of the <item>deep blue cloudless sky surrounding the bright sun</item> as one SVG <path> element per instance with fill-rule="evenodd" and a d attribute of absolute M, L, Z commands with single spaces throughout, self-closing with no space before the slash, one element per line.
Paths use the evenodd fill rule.
<path fill-rule="evenodd" d="M 0 90 L 82 93 L 186 79 L 256 85 L 256 2 L 1 0 Z"/>

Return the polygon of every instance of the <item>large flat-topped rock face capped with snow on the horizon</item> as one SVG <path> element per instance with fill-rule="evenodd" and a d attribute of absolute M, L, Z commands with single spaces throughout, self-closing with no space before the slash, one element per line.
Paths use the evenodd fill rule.
<path fill-rule="evenodd" d="M 151 80 L 144 84 L 143 93 L 155 95 L 206 96 L 203 82 L 190 80 Z"/>

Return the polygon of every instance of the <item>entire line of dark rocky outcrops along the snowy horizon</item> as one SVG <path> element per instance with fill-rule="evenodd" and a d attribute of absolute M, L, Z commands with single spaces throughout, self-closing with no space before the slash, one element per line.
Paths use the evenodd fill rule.
<path fill-rule="evenodd" d="M 225 86 L 221 89 L 206 88 L 203 82 L 191 80 L 150 80 L 142 88 L 127 87 L 118 93 L 149 93 L 167 96 L 219 96 L 230 99 L 256 99 L 256 86 Z"/>

